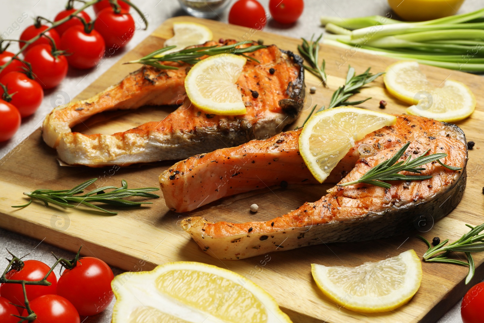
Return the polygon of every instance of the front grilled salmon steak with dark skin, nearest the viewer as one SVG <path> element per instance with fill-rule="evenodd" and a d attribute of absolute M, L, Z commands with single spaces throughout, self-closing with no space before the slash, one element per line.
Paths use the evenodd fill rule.
<path fill-rule="evenodd" d="M 160 175 L 166 203 L 178 212 L 193 209 L 197 203 L 203 205 L 204 199 L 214 200 L 265 184 L 316 183 L 299 155 L 299 134 L 298 130 L 288 131 L 177 163 Z M 448 154 L 441 161 L 462 169 L 450 170 L 432 162 L 422 166 L 422 174 L 432 175 L 431 179 L 392 181 L 389 189 L 368 184 L 334 186 L 320 200 L 306 202 L 269 221 L 211 223 L 190 217 L 181 226 L 203 251 L 210 249 L 210 254 L 220 259 L 243 259 L 323 242 L 379 239 L 409 231 L 419 215 L 437 220 L 461 200 L 466 185 L 467 143 L 456 125 L 397 115 L 395 125 L 357 141 L 326 182 L 357 180 L 408 141 L 402 158 L 430 149 L 430 154 Z M 227 163 L 232 159 L 236 162 Z M 182 199 L 183 194 L 192 200 Z"/>

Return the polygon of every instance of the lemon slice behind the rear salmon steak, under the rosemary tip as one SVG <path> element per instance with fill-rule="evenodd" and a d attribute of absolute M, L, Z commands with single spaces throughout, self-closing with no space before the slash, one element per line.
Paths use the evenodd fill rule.
<path fill-rule="evenodd" d="M 213 38 L 210 29 L 196 22 L 174 22 L 173 34 L 173 37 L 165 41 L 164 46 L 174 45 L 176 47 L 163 52 L 160 56 L 179 51 L 188 46 L 203 44 Z"/>

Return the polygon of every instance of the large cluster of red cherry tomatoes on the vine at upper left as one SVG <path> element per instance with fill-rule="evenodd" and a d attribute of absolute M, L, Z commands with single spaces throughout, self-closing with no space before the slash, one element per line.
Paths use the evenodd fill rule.
<path fill-rule="evenodd" d="M 74 8 L 74 1 L 78 0 L 69 0 L 53 21 L 37 17 L 22 32 L 18 43 L 23 59 L 6 51 L 8 44 L 1 48 L 0 43 L 0 142 L 15 135 L 22 118 L 32 115 L 42 104 L 43 90 L 58 86 L 69 67 L 93 68 L 107 50 L 112 53 L 133 37 L 136 24 L 128 3 L 91 3 L 97 17 L 91 21 L 85 11 Z M 38 39 L 30 42 L 34 37 Z"/>

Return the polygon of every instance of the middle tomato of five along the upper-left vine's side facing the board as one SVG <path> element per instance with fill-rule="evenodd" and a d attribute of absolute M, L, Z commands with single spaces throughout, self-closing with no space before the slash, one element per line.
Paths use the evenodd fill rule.
<path fill-rule="evenodd" d="M 54 88 L 61 83 L 67 75 L 67 59 L 64 55 L 52 55 L 52 47 L 47 44 L 33 46 L 27 54 L 25 61 L 32 66 L 35 79 L 43 89 Z"/>

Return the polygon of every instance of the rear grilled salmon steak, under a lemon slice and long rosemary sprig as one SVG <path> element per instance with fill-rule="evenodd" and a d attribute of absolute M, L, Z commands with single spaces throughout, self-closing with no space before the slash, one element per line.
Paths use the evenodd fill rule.
<path fill-rule="evenodd" d="M 198 46 L 235 44 L 207 42 Z M 247 44 L 245 46 L 257 45 Z M 44 141 L 57 149 L 62 161 L 71 165 L 127 166 L 159 160 L 182 159 L 251 139 L 269 138 L 282 131 L 300 114 L 304 100 L 302 58 L 275 45 L 248 56 L 236 84 L 247 113 L 239 116 L 207 114 L 188 99 L 184 80 L 191 65 L 163 62 L 178 70 L 143 66 L 120 83 L 94 97 L 57 107 L 45 118 Z M 256 93 L 258 95 L 254 95 Z M 145 105 L 180 105 L 162 121 L 142 124 L 113 135 L 84 135 L 71 128 L 92 115 Z"/>

